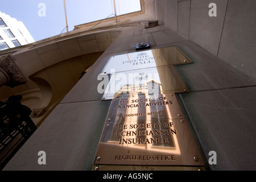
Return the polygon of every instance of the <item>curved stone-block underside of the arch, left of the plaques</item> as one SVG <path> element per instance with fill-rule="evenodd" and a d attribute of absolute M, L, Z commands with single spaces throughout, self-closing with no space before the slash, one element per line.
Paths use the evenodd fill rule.
<path fill-rule="evenodd" d="M 64 39 L 43 46 L 16 52 L 13 56 L 22 72 L 27 77 L 53 64 L 89 53 L 104 52 L 116 38 L 120 31 L 102 31 L 93 34 L 80 35 Z"/>

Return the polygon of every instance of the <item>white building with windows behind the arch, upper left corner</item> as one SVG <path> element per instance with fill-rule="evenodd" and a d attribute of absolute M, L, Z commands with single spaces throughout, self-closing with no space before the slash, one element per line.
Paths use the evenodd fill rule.
<path fill-rule="evenodd" d="M 0 51 L 35 42 L 24 24 L 0 11 Z"/>

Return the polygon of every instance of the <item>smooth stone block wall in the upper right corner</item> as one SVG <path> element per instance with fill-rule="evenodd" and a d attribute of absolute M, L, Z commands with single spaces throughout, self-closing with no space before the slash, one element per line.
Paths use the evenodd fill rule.
<path fill-rule="evenodd" d="M 253 0 L 154 1 L 159 24 L 191 40 L 256 80 Z M 208 15 L 215 3 L 217 16 Z"/>

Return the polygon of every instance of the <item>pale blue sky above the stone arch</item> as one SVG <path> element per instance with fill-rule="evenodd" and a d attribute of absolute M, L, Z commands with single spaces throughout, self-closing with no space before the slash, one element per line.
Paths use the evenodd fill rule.
<path fill-rule="evenodd" d="M 65 0 L 65 2 L 68 31 L 72 31 L 78 24 L 104 19 L 114 14 L 113 0 Z M 40 6 L 42 3 L 45 9 Z M 117 15 L 140 10 L 139 0 L 115 0 L 115 5 Z M 63 0 L 0 0 L 0 11 L 22 21 L 35 41 L 67 31 Z"/>

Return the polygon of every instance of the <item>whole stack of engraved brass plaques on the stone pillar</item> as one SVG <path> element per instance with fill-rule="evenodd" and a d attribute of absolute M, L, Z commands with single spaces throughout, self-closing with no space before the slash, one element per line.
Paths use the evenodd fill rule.
<path fill-rule="evenodd" d="M 102 100 L 112 103 L 94 168 L 204 168 L 175 96 L 188 92 L 174 67 L 184 63 L 192 61 L 175 46 L 111 57 L 104 68 L 110 81 Z"/>

